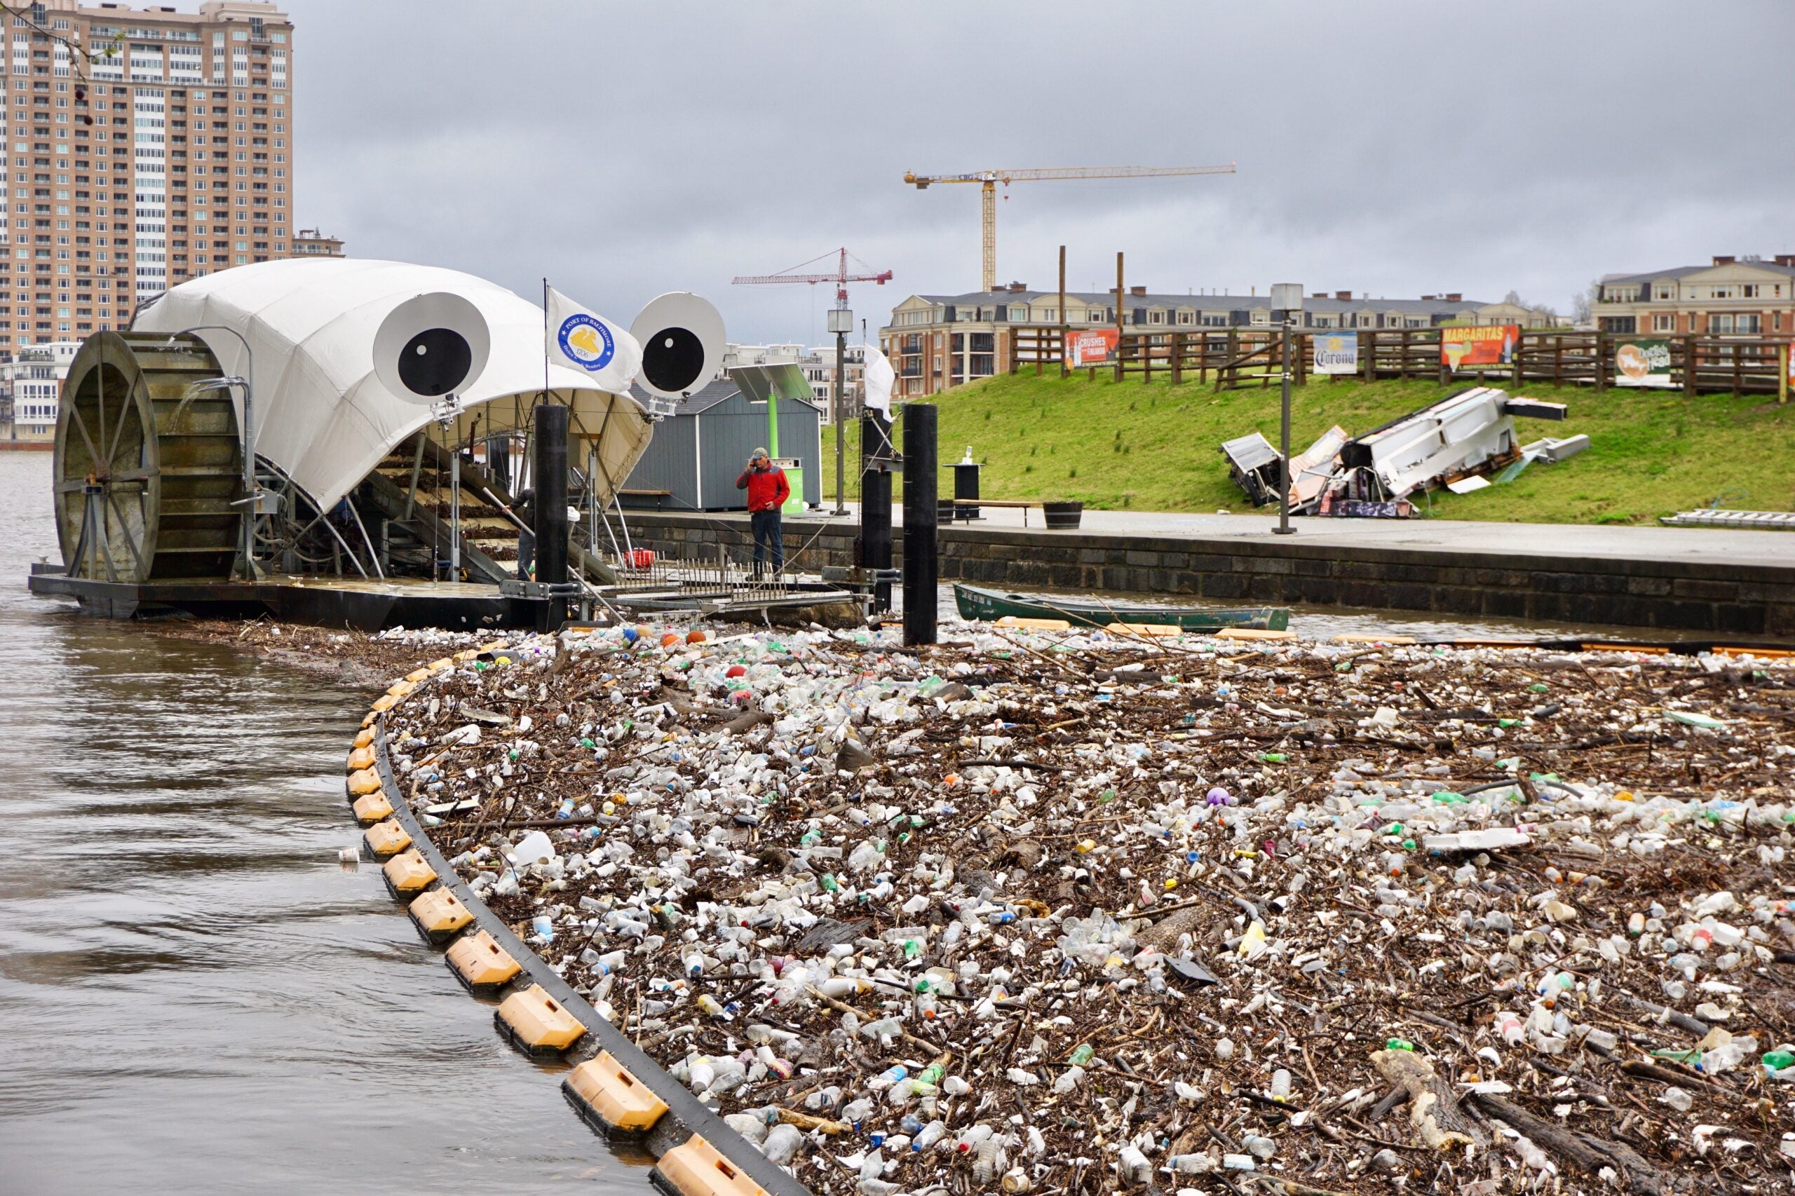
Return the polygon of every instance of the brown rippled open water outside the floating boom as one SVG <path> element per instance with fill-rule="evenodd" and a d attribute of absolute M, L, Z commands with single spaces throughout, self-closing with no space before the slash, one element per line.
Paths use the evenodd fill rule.
<path fill-rule="evenodd" d="M 648 1191 L 336 862 L 364 699 L 31 598 L 48 479 L 0 453 L 0 1191 Z"/>

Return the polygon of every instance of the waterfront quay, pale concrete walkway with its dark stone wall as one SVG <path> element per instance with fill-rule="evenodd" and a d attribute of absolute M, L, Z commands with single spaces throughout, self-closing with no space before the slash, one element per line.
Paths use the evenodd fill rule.
<path fill-rule="evenodd" d="M 942 580 L 1795 638 L 1790 532 L 1292 519 L 1273 535 L 1276 515 L 1113 510 L 1048 532 L 1039 508 L 1027 528 L 1020 508 L 982 514 L 941 526 Z M 673 557 L 750 542 L 741 514 L 632 512 L 630 530 Z M 854 564 L 858 530 L 858 512 L 788 517 L 786 551 Z"/>

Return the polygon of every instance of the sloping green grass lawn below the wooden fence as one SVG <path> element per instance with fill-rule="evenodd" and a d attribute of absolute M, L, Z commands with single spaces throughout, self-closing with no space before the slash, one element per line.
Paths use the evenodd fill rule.
<path fill-rule="evenodd" d="M 1292 451 L 1332 424 L 1359 435 L 1456 390 L 1420 381 L 1316 379 L 1292 391 Z M 1519 523 L 1651 523 L 1707 506 L 1795 510 L 1795 404 L 1754 395 L 1648 390 L 1596 393 L 1522 386 L 1563 402 L 1563 424 L 1517 420 L 1522 442 L 1587 433 L 1590 447 L 1563 465 L 1531 465 L 1475 494 L 1438 490 L 1416 505 L 1441 519 Z M 1034 374 L 998 375 L 932 399 L 941 408 L 941 492 L 948 465 L 971 445 L 985 497 L 1081 499 L 1120 510 L 1251 510 L 1228 479 L 1222 440 L 1260 431 L 1278 442 L 1278 390 L 1215 393 L 1203 383 L 1122 383 Z M 858 427 L 849 429 L 858 453 Z M 824 490 L 833 497 L 835 444 L 824 429 Z M 849 465 L 849 487 L 854 467 Z M 849 494 L 853 499 L 854 496 Z M 1271 508 L 1267 508 L 1271 510 Z"/>

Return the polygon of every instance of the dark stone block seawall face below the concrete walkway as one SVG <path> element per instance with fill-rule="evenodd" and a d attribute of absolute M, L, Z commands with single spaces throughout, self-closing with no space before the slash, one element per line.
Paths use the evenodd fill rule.
<path fill-rule="evenodd" d="M 1540 537 L 1551 541 L 1551 528 Z M 858 524 L 788 519 L 801 569 L 854 564 Z M 752 544 L 747 515 L 630 514 L 637 548 L 680 558 Z M 1291 539 L 941 528 L 941 578 L 1018 587 L 1185 594 L 1215 602 L 1427 611 L 1718 636 L 1795 636 L 1788 566 L 1305 544 Z M 799 551 L 802 550 L 802 555 Z M 894 537 L 901 558 L 903 535 Z M 738 557 L 738 553 L 732 553 Z"/>

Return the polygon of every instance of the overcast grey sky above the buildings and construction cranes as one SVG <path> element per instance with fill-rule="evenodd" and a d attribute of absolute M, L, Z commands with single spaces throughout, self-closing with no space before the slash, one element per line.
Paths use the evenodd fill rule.
<path fill-rule="evenodd" d="M 296 212 L 354 257 L 540 277 L 628 321 L 711 296 L 738 341 L 820 343 L 824 287 L 732 287 L 845 244 L 876 327 L 978 286 L 982 167 L 1018 183 L 998 277 L 1156 291 L 1517 289 L 1795 250 L 1795 5 L 289 0 Z M 1002 194 L 1002 192 L 1000 192 Z"/>

